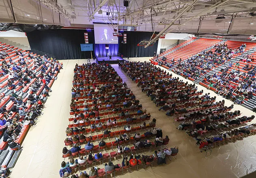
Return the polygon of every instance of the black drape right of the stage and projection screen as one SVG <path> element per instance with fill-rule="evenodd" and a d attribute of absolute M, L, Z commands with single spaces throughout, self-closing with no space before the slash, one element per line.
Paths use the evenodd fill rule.
<path fill-rule="evenodd" d="M 153 46 L 138 47 L 137 44 L 142 40 L 150 40 L 153 32 L 124 32 L 127 34 L 126 44 L 122 44 L 123 37 L 118 39 L 119 43 L 119 53 L 123 54 L 125 57 L 149 57 L 154 55 L 154 51 L 157 52 L 157 42 Z"/>

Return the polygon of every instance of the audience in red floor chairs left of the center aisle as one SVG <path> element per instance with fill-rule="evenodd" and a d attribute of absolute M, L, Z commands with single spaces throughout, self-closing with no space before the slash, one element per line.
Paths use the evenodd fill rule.
<path fill-rule="evenodd" d="M 73 124 L 66 130 L 67 136 L 71 138 L 65 139 L 66 146 L 62 150 L 63 157 L 72 155 L 73 158 L 69 162 L 62 162 L 60 177 L 69 174 L 73 174 L 71 178 L 115 174 L 114 172 L 139 165 L 146 167 L 154 160 L 159 164 L 166 163 L 166 155 L 178 153 L 178 147 L 175 147 L 165 148 L 155 155 L 138 154 L 140 150 L 167 145 L 169 138 L 163 138 L 161 129 L 154 128 L 156 119 L 146 123 L 150 120 L 150 113 L 146 114 L 140 101 L 126 83 L 122 83 L 122 79 L 110 65 L 76 65 L 73 86 L 70 104 L 72 118 L 69 119 Z M 139 127 L 133 127 L 138 123 L 141 123 Z M 151 139 L 153 140 L 150 141 Z M 112 149 L 112 152 L 105 152 L 107 149 Z M 116 150 L 113 151 L 114 149 Z M 79 159 L 74 159 L 76 155 L 79 155 Z M 122 155 L 123 161 L 114 164 Z M 101 165 L 104 161 L 107 162 L 103 164 L 104 168 L 91 167 L 88 173 L 81 172 L 80 176 L 74 174 L 77 167 L 86 165 L 88 168 L 93 163 Z"/>

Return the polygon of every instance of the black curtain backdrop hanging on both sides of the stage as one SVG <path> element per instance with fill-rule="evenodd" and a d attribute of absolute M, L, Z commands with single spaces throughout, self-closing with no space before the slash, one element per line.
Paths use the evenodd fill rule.
<path fill-rule="evenodd" d="M 81 51 L 80 44 L 84 43 L 86 30 L 34 30 L 27 33 L 31 49 L 37 49 L 54 55 L 56 59 L 90 59 L 90 51 Z M 94 31 L 88 33 L 89 43 L 94 44 Z M 127 43 L 122 44 L 123 36 L 118 38 L 119 53 L 125 57 L 149 57 L 157 51 L 158 41 L 151 47 L 138 47 L 142 40 L 149 40 L 153 32 L 124 32 L 127 34 Z M 95 50 L 95 45 L 93 45 Z M 95 52 L 92 51 L 93 57 Z"/>

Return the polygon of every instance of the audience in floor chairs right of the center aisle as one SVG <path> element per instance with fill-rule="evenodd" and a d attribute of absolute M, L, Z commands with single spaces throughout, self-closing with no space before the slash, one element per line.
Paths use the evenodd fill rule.
<path fill-rule="evenodd" d="M 176 115 L 175 121 L 182 121 L 177 129 L 186 130 L 190 136 L 197 140 L 198 144 L 211 136 L 215 138 L 214 134 L 218 132 L 222 132 L 219 135 L 226 136 L 224 129 L 229 129 L 230 133 L 235 130 L 237 134 L 254 134 L 255 125 L 235 129 L 235 127 L 246 125 L 252 121 L 254 116 L 243 116 L 239 119 L 234 119 L 241 113 L 239 110 L 229 112 L 233 105 L 224 106 L 224 100 L 215 102 L 215 97 L 210 97 L 209 93 L 202 95 L 203 91 L 197 92 L 195 84 L 184 83 L 179 78 L 151 79 L 151 76 L 155 74 L 153 70 L 150 71 L 150 65 L 150 63 L 146 62 L 126 62 L 121 63 L 120 67 L 124 71 L 133 71 L 134 66 L 141 68 L 140 71 L 136 71 L 136 75 L 141 77 L 140 81 L 138 81 L 138 86 L 142 87 L 142 91 L 146 91 L 147 96 L 151 97 L 156 106 L 161 106 L 159 111 L 163 109 L 167 111 L 166 115 L 168 116 Z M 149 75 L 146 75 L 146 73 Z M 128 74 L 132 76 L 131 72 Z M 158 75 L 161 77 L 163 74 L 162 72 Z M 237 136 L 237 134 L 231 136 Z M 216 139 L 214 140 L 214 142 L 217 141 Z"/>

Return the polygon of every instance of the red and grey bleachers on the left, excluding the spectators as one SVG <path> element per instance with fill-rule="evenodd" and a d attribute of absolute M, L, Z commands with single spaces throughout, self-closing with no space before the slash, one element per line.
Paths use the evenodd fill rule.
<path fill-rule="evenodd" d="M 21 59 L 19 59 L 19 55 L 17 55 L 16 51 L 19 51 L 21 53 L 21 55 L 23 56 L 22 58 L 24 59 L 24 62 L 26 63 L 22 63 L 20 62 Z M 62 64 L 59 63 L 56 60 L 47 58 L 46 56 L 38 56 L 37 54 L 33 54 L 30 51 L 26 51 L 26 50 L 22 50 L 19 49 L 17 47 L 13 47 L 9 44 L 5 44 L 0 42 L 0 52 L 2 52 L 3 54 L 6 55 L 2 55 L 2 59 L 0 59 L 0 67 L 4 68 L 5 63 L 6 62 L 9 66 L 9 68 L 7 67 L 6 69 L 8 69 L 10 72 L 13 71 L 13 66 L 19 66 L 20 67 L 20 71 L 22 73 L 25 73 L 25 70 L 30 70 L 33 74 L 35 74 L 36 78 L 33 78 L 32 76 L 28 75 L 28 78 L 31 79 L 30 83 L 26 83 L 24 82 L 24 85 L 22 86 L 17 86 L 18 83 L 18 79 L 11 79 L 12 80 L 12 84 L 16 85 L 15 88 L 13 87 L 9 87 L 8 86 L 8 80 L 9 80 L 9 73 L 7 74 L 3 74 L 0 77 L 0 93 L 1 93 L 1 100 L 0 100 L 0 108 L 2 108 L 3 106 L 6 106 L 6 111 L 7 113 L 9 113 L 9 118 L 8 119 L 14 119 L 17 112 L 13 112 L 11 111 L 11 109 L 13 108 L 15 101 L 11 100 L 11 94 L 15 94 L 17 95 L 17 97 L 20 97 L 22 99 L 22 102 L 24 102 L 24 104 L 26 104 L 26 108 L 25 108 L 25 112 L 29 111 L 32 104 L 28 104 L 27 100 L 28 100 L 28 96 L 30 94 L 30 90 L 29 87 L 31 87 L 36 81 L 37 79 L 39 80 L 39 83 L 42 83 L 42 79 L 43 79 L 43 74 L 50 74 L 49 76 L 52 77 L 52 80 L 49 80 L 49 83 L 47 82 L 47 86 L 51 87 L 52 83 L 54 82 L 54 80 L 56 79 L 56 76 L 58 74 L 58 71 L 55 72 L 56 68 L 58 68 L 58 70 L 60 70 Z M 32 55 L 31 57 L 33 57 L 34 59 L 28 57 L 28 55 Z M 37 62 L 35 59 L 37 58 Z M 46 60 L 46 61 L 45 61 Z M 47 71 L 45 71 L 44 73 L 41 73 L 41 69 L 43 64 L 46 63 L 47 66 Z M 49 67 L 49 64 L 51 63 L 52 67 Z M 22 76 L 23 78 L 23 76 Z M 26 85 L 25 85 L 26 83 Z M 37 89 L 36 92 L 36 97 L 38 99 L 41 99 L 42 101 L 46 101 L 47 99 L 47 95 L 43 95 L 43 89 L 45 85 L 41 85 L 41 87 L 39 89 Z M 0 118 L 4 117 L 4 113 L 0 114 Z M 21 118 L 19 121 L 23 121 L 23 119 Z M 26 134 L 28 133 L 28 130 L 30 128 L 30 125 L 24 125 L 23 124 L 23 128 L 22 128 L 22 132 L 19 134 L 19 136 L 17 137 L 17 139 L 15 140 L 15 142 L 17 144 L 22 144 L 23 140 L 26 137 Z M 3 136 L 4 131 L 0 131 L 0 137 Z M 12 149 L 9 148 L 8 146 L 8 142 L 3 142 L 3 138 L 0 138 L 0 150 L 8 150 L 7 152 L 0 152 L 1 155 L 0 157 L 2 157 L 2 163 L 9 163 L 9 165 L 6 165 L 7 167 L 13 167 L 21 150 L 17 150 L 17 149 Z M 17 152 L 17 153 L 15 153 Z M 4 155 L 2 155 L 2 153 Z M 6 154 L 5 154 L 6 153 Z M 5 161 L 6 160 L 6 161 Z M 1 163 L 1 165 L 2 165 Z"/>

